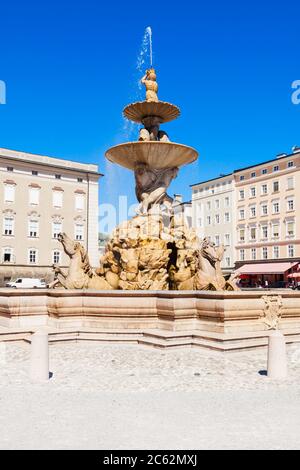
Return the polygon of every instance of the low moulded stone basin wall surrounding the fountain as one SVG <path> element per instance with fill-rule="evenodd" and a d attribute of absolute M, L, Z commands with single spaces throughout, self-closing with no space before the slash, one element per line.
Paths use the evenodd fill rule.
<path fill-rule="evenodd" d="M 266 344 L 275 326 L 299 341 L 300 292 L 0 291 L 0 341 L 26 339 L 40 326 L 56 340 L 241 349 Z"/>

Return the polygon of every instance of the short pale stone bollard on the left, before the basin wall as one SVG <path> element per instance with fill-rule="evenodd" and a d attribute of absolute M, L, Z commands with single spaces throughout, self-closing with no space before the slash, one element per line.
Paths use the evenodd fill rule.
<path fill-rule="evenodd" d="M 34 382 L 49 380 L 49 346 L 46 331 L 37 331 L 31 335 L 30 378 Z"/>

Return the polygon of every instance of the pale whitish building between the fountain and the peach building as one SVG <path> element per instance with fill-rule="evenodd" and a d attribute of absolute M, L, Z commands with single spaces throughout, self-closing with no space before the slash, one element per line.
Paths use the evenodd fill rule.
<path fill-rule="evenodd" d="M 235 188 L 234 177 L 221 175 L 192 186 L 193 227 L 200 238 L 207 237 L 217 246 L 223 244 L 224 272 L 232 272 L 235 263 Z"/>

